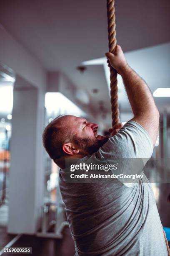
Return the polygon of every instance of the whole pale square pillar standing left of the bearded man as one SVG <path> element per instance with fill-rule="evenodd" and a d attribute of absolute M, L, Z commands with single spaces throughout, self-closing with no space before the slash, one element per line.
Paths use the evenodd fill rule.
<path fill-rule="evenodd" d="M 37 231 L 43 200 L 44 97 L 21 77 L 14 86 L 10 143 L 9 233 Z"/>

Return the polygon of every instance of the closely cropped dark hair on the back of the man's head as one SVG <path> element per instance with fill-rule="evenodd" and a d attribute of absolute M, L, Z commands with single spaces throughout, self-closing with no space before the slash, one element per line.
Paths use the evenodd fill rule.
<path fill-rule="evenodd" d="M 69 132 L 66 127 L 61 125 L 57 126 L 58 119 L 62 116 L 63 115 L 59 115 L 52 120 L 52 122 L 45 127 L 42 134 L 43 146 L 53 160 L 60 159 L 60 157 L 65 154 L 62 150 L 62 145 L 71 138 L 71 132 Z"/>

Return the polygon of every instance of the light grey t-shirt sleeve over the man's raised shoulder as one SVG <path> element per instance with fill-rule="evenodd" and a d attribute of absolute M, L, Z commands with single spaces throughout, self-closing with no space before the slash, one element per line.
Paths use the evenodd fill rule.
<path fill-rule="evenodd" d="M 96 154 L 98 158 L 105 159 L 150 159 L 153 154 L 153 142 L 142 125 L 135 121 L 128 121 Z"/>

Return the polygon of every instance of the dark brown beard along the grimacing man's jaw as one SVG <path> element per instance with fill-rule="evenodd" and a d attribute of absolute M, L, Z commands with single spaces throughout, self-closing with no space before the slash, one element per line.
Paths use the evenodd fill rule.
<path fill-rule="evenodd" d="M 83 153 L 91 155 L 95 153 L 102 145 L 104 145 L 110 137 L 105 137 L 102 140 L 97 140 L 96 138 L 80 138 L 78 136 L 73 136 L 73 142 L 76 143 Z"/>

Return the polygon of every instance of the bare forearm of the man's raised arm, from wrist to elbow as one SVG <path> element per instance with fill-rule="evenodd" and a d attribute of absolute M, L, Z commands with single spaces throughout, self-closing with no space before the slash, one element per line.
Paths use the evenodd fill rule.
<path fill-rule="evenodd" d="M 158 111 L 147 84 L 128 64 L 122 68 L 120 75 L 125 84 L 134 116 Z"/>

